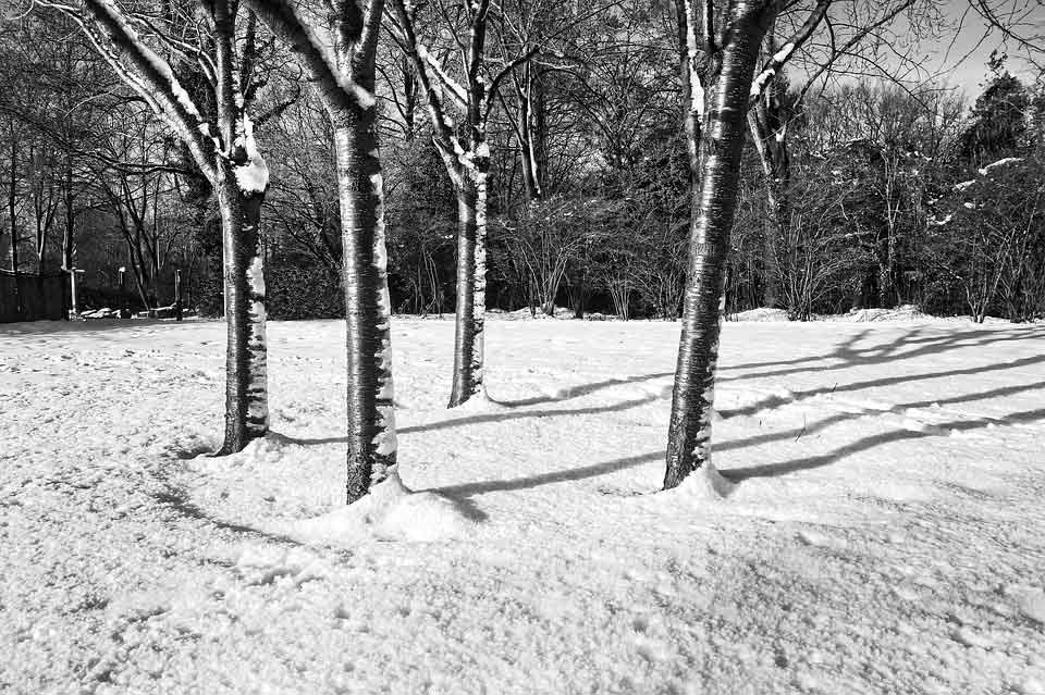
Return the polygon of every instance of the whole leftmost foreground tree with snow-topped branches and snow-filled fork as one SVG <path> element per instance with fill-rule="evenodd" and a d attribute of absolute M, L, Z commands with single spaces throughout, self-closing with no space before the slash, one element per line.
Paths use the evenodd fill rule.
<path fill-rule="evenodd" d="M 259 224 L 269 170 L 258 150 L 249 114 L 257 59 L 255 20 L 241 17 L 231 0 L 201 0 L 184 21 L 199 21 L 202 39 L 192 45 L 155 33 L 150 38 L 199 63 L 211 89 L 214 123 L 183 87 L 171 62 L 139 34 L 114 0 L 65 4 L 41 0 L 72 17 L 116 75 L 185 144 L 217 194 L 221 213 L 228 345 L 225 433 L 219 455 L 239 451 L 269 426 L 265 277 Z M 170 5 L 165 5 L 170 10 Z M 245 24 L 237 34 L 237 20 Z M 143 22 L 145 26 L 155 26 Z M 239 39 L 243 40 L 239 40 Z"/>

